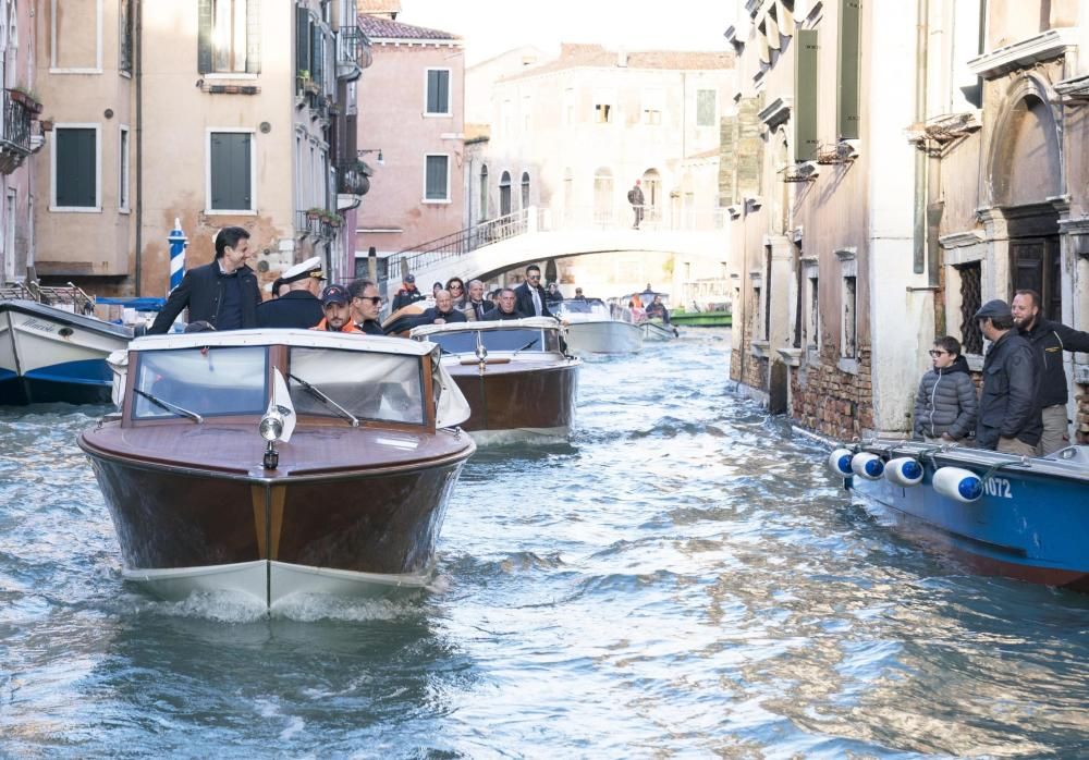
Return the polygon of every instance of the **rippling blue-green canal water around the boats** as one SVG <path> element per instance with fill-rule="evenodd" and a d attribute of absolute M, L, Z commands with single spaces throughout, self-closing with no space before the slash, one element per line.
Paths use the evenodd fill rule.
<path fill-rule="evenodd" d="M 729 345 L 589 360 L 570 445 L 466 466 L 428 592 L 271 616 L 123 583 L 102 409 L 0 409 L 0 756 L 1089 755 L 1089 598 L 897 538 Z"/>

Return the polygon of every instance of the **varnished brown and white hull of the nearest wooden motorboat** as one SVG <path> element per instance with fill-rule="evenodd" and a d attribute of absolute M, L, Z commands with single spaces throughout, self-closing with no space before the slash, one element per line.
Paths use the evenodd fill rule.
<path fill-rule="evenodd" d="M 167 599 L 240 591 L 375 596 L 423 586 L 472 445 L 438 463 L 290 478 L 103 455 L 84 439 L 126 578 Z"/>

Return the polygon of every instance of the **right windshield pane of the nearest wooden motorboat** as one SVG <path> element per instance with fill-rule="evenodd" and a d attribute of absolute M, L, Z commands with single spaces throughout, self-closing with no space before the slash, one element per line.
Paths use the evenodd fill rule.
<path fill-rule="evenodd" d="M 298 380 L 359 419 L 424 425 L 424 380 L 418 356 L 293 347 L 287 389 L 298 415 L 343 417 Z"/>

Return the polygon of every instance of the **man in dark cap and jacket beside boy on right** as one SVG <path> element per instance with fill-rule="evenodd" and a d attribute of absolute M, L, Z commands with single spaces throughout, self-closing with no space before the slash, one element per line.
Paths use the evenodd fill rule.
<path fill-rule="evenodd" d="M 983 359 L 976 445 L 1006 454 L 1035 456 L 1043 432 L 1037 388 L 1040 368 L 1032 345 L 1013 329 L 1004 301 L 989 301 L 976 312 L 983 338 L 991 341 Z"/>

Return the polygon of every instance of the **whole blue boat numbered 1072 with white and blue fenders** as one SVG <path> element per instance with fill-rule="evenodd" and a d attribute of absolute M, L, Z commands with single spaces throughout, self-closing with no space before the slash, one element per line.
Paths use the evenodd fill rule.
<path fill-rule="evenodd" d="M 874 440 L 835 450 L 828 466 L 971 571 L 1089 592 L 1089 445 L 1023 457 Z"/>

